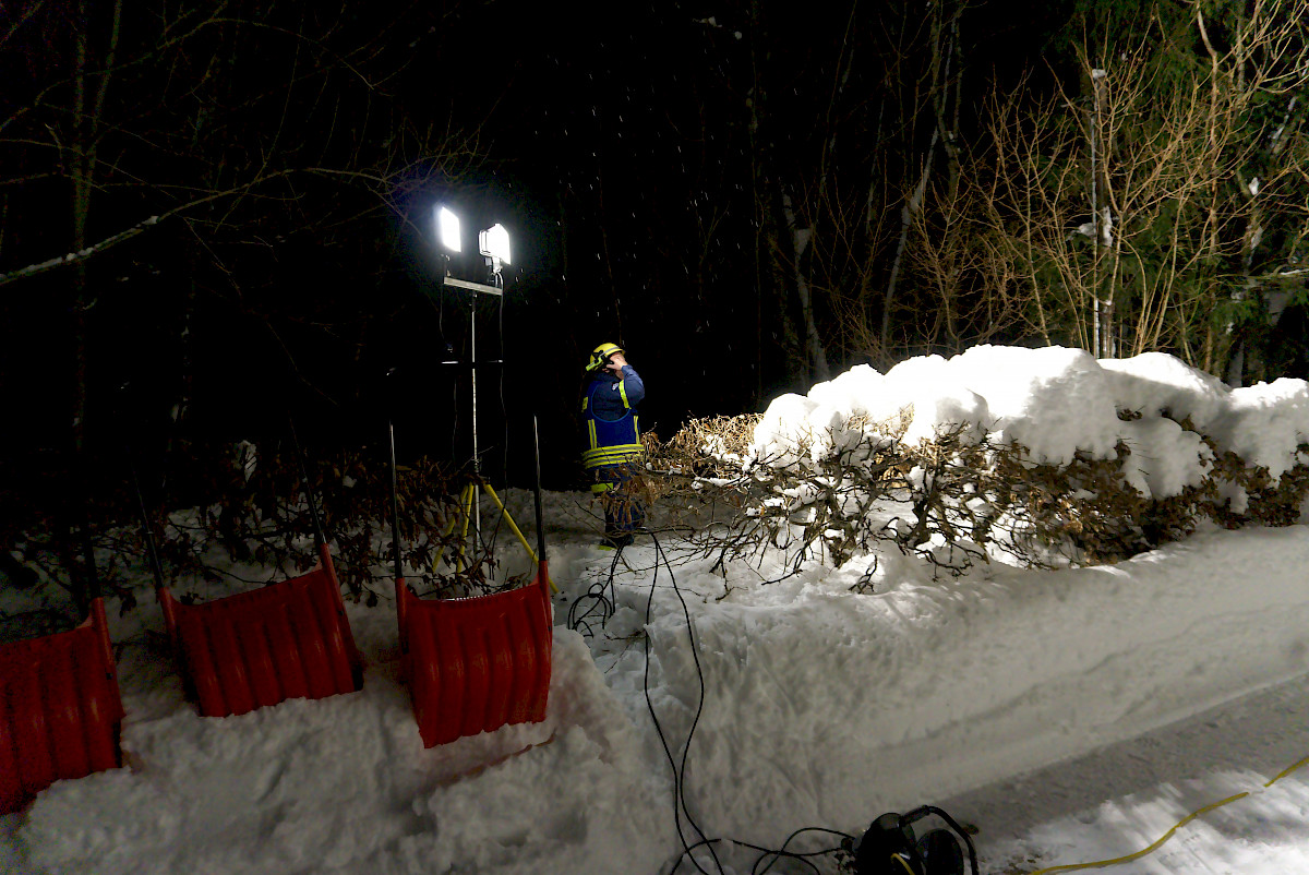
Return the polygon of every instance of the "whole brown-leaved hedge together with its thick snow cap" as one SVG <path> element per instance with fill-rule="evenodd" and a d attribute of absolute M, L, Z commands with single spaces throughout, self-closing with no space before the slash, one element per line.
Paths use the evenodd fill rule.
<path fill-rule="evenodd" d="M 988 553 L 1097 562 L 1203 517 L 1299 519 L 1309 384 L 1230 389 L 1160 352 L 980 346 L 781 396 L 733 453 L 696 440 L 746 517 L 733 545 L 781 534 L 839 561 L 876 537 L 956 568 Z"/>

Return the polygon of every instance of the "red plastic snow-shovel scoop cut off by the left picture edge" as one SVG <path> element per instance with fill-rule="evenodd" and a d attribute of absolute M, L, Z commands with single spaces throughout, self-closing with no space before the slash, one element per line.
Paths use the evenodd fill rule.
<path fill-rule="evenodd" d="M 62 778 L 117 769 L 122 723 L 103 600 L 73 630 L 0 644 L 0 813 Z"/>

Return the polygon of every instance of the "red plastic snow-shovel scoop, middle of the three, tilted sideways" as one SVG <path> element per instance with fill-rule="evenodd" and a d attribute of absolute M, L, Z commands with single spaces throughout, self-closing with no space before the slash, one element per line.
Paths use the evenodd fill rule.
<path fill-rule="evenodd" d="M 305 575 L 199 605 L 160 591 L 187 688 L 204 717 L 363 686 L 355 637 L 327 548 Z"/>

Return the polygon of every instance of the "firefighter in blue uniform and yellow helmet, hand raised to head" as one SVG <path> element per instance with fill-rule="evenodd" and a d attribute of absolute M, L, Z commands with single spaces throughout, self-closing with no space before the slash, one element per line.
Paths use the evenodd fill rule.
<path fill-rule="evenodd" d="M 592 494 L 605 502 L 601 546 L 623 548 L 645 521 L 645 510 L 630 489 L 643 452 L 636 405 L 645 397 L 645 384 L 615 343 L 592 350 L 586 373 L 590 381 L 581 400 L 586 422 L 583 465 L 594 478 Z"/>

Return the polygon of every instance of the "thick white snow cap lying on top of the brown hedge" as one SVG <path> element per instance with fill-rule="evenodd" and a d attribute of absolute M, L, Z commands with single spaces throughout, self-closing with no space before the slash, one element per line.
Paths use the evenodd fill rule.
<path fill-rule="evenodd" d="M 1128 482 L 1162 498 L 1204 477 L 1212 453 L 1199 434 L 1280 477 L 1309 441 L 1309 384 L 1233 390 L 1162 352 L 1097 362 L 1064 347 L 978 346 L 950 359 L 908 359 L 886 375 L 856 365 L 808 396 L 781 396 L 755 428 L 751 457 L 804 465 L 869 438 L 884 445 L 906 419 L 910 445 L 958 428 L 965 440 L 1018 443 L 1052 465 L 1077 451 L 1118 458 L 1122 441 Z M 1178 426 L 1185 419 L 1195 431 Z"/>

